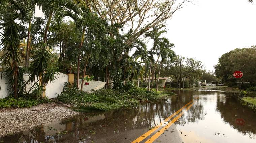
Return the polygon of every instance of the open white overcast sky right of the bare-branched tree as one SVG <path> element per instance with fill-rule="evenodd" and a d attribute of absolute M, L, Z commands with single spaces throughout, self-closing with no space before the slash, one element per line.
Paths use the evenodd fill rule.
<path fill-rule="evenodd" d="M 167 22 L 173 50 L 214 70 L 218 58 L 235 48 L 256 45 L 256 4 L 248 0 L 194 0 Z"/>

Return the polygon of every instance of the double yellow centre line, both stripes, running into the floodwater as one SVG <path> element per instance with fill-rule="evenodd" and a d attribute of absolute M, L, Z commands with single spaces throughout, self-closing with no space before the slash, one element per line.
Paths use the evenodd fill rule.
<path fill-rule="evenodd" d="M 173 113 L 171 116 L 167 117 L 164 121 L 168 122 L 171 118 L 173 118 L 175 115 L 177 115 L 179 112 L 181 112 L 184 108 L 186 108 L 190 103 L 192 103 L 192 101 L 188 102 L 185 106 L 183 106 L 181 109 L 177 110 L 175 113 Z M 191 106 L 194 103 L 190 104 L 186 110 L 190 109 Z M 156 140 L 162 133 L 164 133 L 164 131 L 166 131 L 175 121 L 177 121 L 182 114 L 184 114 L 184 111 L 182 111 L 180 114 L 178 114 L 175 118 L 173 118 L 171 120 L 171 122 L 169 122 L 167 125 L 165 125 L 163 128 L 161 128 L 157 133 L 155 133 L 152 137 L 150 137 L 145 143 L 152 143 L 154 140 Z M 159 127 L 161 127 L 160 125 L 155 126 L 155 128 L 149 130 L 148 132 L 146 132 L 145 134 L 141 135 L 139 138 L 137 138 L 136 140 L 134 140 L 132 143 L 139 143 L 142 140 L 144 140 L 146 137 L 148 137 L 150 134 L 152 134 L 154 131 L 156 131 Z"/>

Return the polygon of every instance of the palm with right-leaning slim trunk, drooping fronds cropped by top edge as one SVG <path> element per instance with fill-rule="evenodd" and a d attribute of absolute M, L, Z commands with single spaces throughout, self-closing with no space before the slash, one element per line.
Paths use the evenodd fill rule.
<path fill-rule="evenodd" d="M 46 43 L 47 41 L 47 32 L 51 24 L 52 17 L 54 17 L 58 22 L 61 22 L 63 17 L 69 16 L 74 19 L 74 14 L 78 13 L 78 8 L 71 0 L 38 0 L 37 6 L 42 10 L 47 19 L 43 43 Z"/>

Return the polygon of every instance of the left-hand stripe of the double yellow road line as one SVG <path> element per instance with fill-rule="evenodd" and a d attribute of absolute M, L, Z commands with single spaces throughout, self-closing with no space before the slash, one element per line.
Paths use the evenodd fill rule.
<path fill-rule="evenodd" d="M 191 102 L 193 102 L 193 100 L 191 100 L 190 102 L 188 102 L 186 105 L 184 105 L 181 109 L 177 110 L 175 113 L 173 113 L 171 116 L 167 117 L 164 121 L 168 121 L 170 120 L 173 116 L 175 116 L 176 114 L 178 114 L 179 112 L 181 112 L 186 106 L 188 106 Z M 161 127 L 160 125 L 155 126 L 155 128 L 152 128 L 151 130 L 149 130 L 148 132 L 146 132 L 145 134 L 141 135 L 139 138 L 137 138 L 136 140 L 134 140 L 132 143 L 139 143 L 142 140 L 144 140 L 147 136 L 149 136 L 150 134 L 152 134 L 155 130 L 157 130 L 159 127 Z"/>

